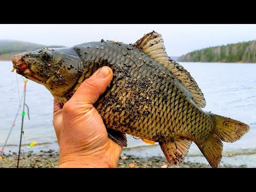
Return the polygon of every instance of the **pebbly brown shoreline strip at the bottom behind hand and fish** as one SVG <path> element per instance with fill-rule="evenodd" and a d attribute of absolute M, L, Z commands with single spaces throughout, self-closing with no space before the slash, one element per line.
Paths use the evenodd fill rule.
<path fill-rule="evenodd" d="M 13 152 L 12 154 L 8 154 L 4 156 L 3 159 L 0 159 L 0 167 L 16 167 L 17 166 L 17 153 Z M 20 158 L 20 167 L 31 167 L 31 168 L 51 168 L 57 167 L 59 161 L 59 153 L 54 150 L 41 150 L 40 153 L 33 153 L 33 151 L 29 151 L 28 153 L 22 153 Z M 164 157 L 154 156 L 154 157 L 137 157 L 132 155 L 121 155 L 119 158 L 118 167 L 122 168 L 156 168 L 156 167 L 164 167 L 171 168 Z M 210 165 L 206 165 L 203 163 L 194 163 L 194 162 L 185 162 L 180 168 L 210 168 Z M 223 164 L 220 167 L 246 167 L 246 165 L 234 166 L 229 164 Z"/>

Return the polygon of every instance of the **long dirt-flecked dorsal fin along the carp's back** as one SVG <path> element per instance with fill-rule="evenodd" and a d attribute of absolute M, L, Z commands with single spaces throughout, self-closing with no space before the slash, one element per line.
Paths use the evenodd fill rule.
<path fill-rule="evenodd" d="M 137 49 L 148 54 L 152 59 L 171 71 L 173 76 L 175 76 L 175 78 L 177 78 L 179 82 L 192 94 L 194 102 L 199 107 L 205 107 L 206 102 L 204 94 L 198 87 L 195 79 L 190 76 L 186 69 L 167 55 L 161 34 L 152 31 L 139 39 L 135 43 L 135 46 Z"/>

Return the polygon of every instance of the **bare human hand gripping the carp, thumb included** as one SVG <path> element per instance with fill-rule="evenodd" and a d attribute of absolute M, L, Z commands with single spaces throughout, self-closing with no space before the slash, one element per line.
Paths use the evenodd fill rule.
<path fill-rule="evenodd" d="M 63 108 L 54 99 L 59 167 L 117 167 L 122 147 L 108 138 L 102 118 L 93 107 L 112 78 L 112 70 L 102 67 L 79 86 Z"/>

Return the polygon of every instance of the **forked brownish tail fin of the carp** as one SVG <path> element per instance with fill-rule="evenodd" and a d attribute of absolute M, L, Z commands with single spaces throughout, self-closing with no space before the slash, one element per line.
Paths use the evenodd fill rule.
<path fill-rule="evenodd" d="M 228 117 L 212 114 L 215 119 L 215 129 L 203 142 L 197 144 L 212 167 L 218 167 L 222 157 L 221 141 L 235 142 L 250 130 L 250 126 Z"/>

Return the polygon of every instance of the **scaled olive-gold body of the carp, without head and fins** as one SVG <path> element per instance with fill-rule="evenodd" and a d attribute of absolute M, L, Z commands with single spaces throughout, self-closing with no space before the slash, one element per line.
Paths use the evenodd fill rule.
<path fill-rule="evenodd" d="M 175 81 L 175 78 L 168 70 L 149 58 L 147 54 L 141 54 L 141 52 L 134 50 L 135 48 L 133 50 L 127 50 L 129 45 L 106 42 L 101 45 L 103 47 L 101 50 L 97 48 L 99 46 L 100 43 L 94 43 L 94 45 L 91 45 L 89 48 L 83 47 L 83 45 L 77 45 L 77 47 L 83 48 L 81 50 L 87 52 L 87 57 L 84 57 L 85 59 L 83 60 L 87 65 L 84 66 L 86 69 L 85 77 L 91 76 L 94 71 L 98 69 L 98 62 L 100 62 L 101 66 L 109 66 L 114 71 L 113 82 L 110 85 L 110 87 L 114 86 L 114 89 L 110 88 L 107 90 L 107 92 L 100 98 L 98 105 L 95 106 L 107 127 L 111 127 L 111 129 L 127 134 L 132 134 L 136 137 L 158 142 L 170 140 L 171 137 L 175 137 L 178 134 L 197 141 L 206 138 L 201 138 L 201 134 L 204 136 L 210 134 L 212 131 L 211 127 L 214 124 L 213 119 L 207 127 L 204 127 L 201 134 L 198 132 L 201 124 L 182 127 L 183 129 L 181 129 L 181 124 L 194 121 L 196 115 L 201 117 L 202 122 L 205 122 L 211 117 L 210 115 L 205 114 L 205 112 L 197 106 L 194 106 L 194 102 L 189 100 L 188 91 L 185 89 L 183 89 L 185 90 L 183 93 L 180 91 L 182 85 Z M 125 53 L 128 54 L 124 56 Z M 82 51 L 79 54 L 81 54 L 82 57 L 84 55 Z M 100 57 L 93 57 L 93 55 L 100 55 Z M 146 61 L 146 63 L 143 60 Z M 113 63 L 114 65 L 111 65 Z M 89 71 L 87 70 L 88 68 L 90 69 Z M 131 78 L 122 78 L 125 71 L 131 74 Z M 165 79 L 163 79 L 163 75 L 161 75 L 163 72 L 166 74 Z M 148 81 L 148 78 L 150 78 L 151 81 Z M 140 79 L 143 79 L 144 81 L 141 81 Z M 131 84 L 131 82 L 134 82 L 134 84 Z M 138 84 L 140 86 L 139 90 L 136 89 Z M 130 85 L 131 87 L 126 90 L 123 85 Z M 154 89 L 155 87 L 159 88 L 155 91 L 148 91 L 148 88 L 150 88 L 149 86 L 151 89 Z M 76 89 L 77 88 L 78 87 L 76 87 Z M 128 94 L 130 90 L 133 90 L 133 95 Z M 157 94 L 157 92 L 159 92 L 159 94 Z M 122 94 L 122 97 L 118 96 L 120 93 Z M 123 95 L 125 95 L 125 97 Z M 171 98 L 171 101 L 164 100 L 163 95 L 165 95 L 166 98 Z M 147 99 L 147 97 L 149 99 Z M 152 102 L 150 102 L 152 97 Z M 124 103 L 122 100 L 124 100 Z M 140 104 L 138 106 L 139 113 L 127 108 L 127 106 L 136 106 L 135 102 Z M 185 104 L 189 106 L 188 108 L 191 108 L 191 113 L 186 116 L 186 119 L 182 118 L 182 121 L 180 122 L 179 118 L 182 117 L 180 113 L 183 111 L 183 106 Z M 109 105 L 112 107 L 108 110 L 102 108 L 102 106 Z M 165 108 L 163 107 L 164 105 Z M 124 108 L 123 110 L 121 109 L 121 106 Z M 146 110 L 146 107 L 148 109 L 152 108 L 152 110 L 148 111 Z M 121 111 L 118 111 L 119 109 L 121 109 Z M 143 115 L 145 111 L 148 111 L 149 114 Z M 171 111 L 171 121 L 166 121 L 164 129 L 161 129 L 169 111 Z M 133 114 L 134 112 L 135 114 Z M 124 121 L 124 119 L 126 119 L 126 121 Z M 147 129 L 145 129 L 145 127 Z M 191 130 L 193 129 L 196 130 L 196 135 L 191 133 Z"/>

